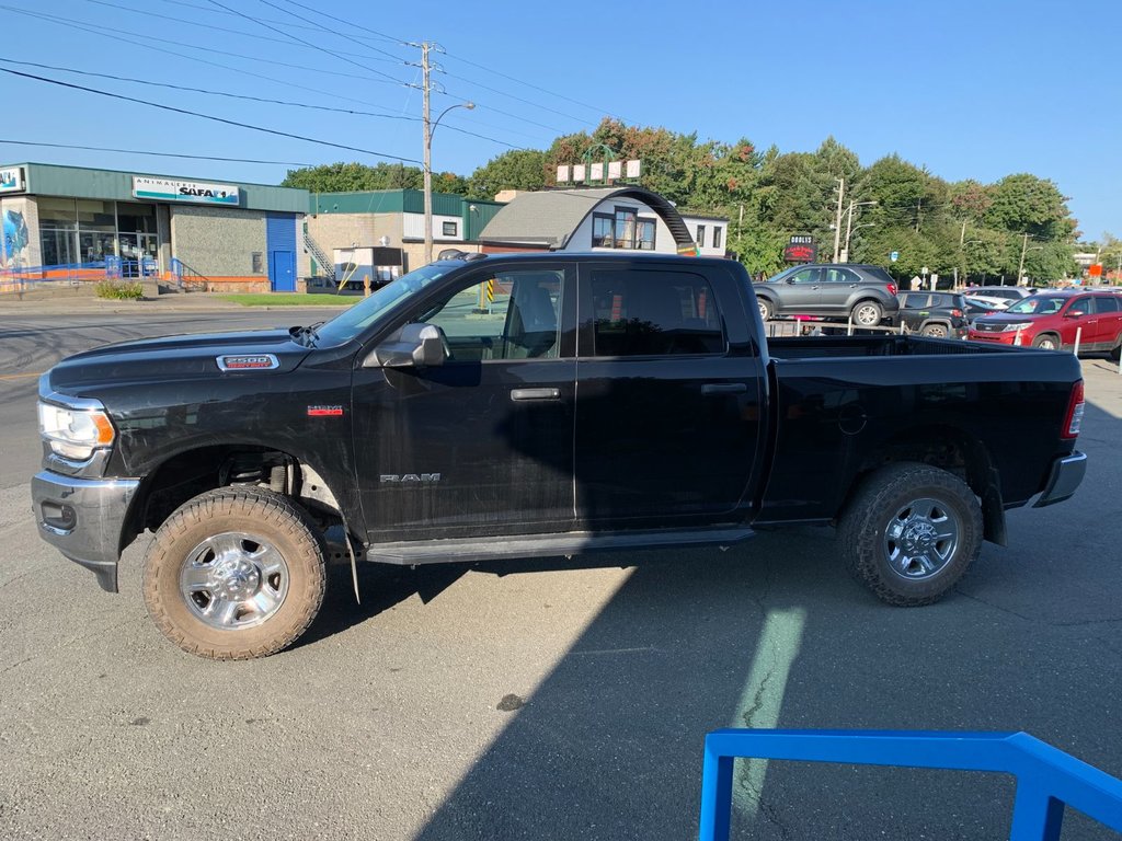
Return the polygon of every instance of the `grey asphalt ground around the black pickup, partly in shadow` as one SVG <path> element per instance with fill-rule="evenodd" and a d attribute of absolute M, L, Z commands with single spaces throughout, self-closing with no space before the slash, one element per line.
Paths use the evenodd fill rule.
<path fill-rule="evenodd" d="M 3 304 L 0 303 L 0 307 Z M 1010 512 L 939 604 L 888 608 L 800 528 L 718 549 L 335 565 L 300 644 L 183 654 L 39 540 L 36 376 L 107 341 L 322 311 L 0 308 L 0 839 L 689 839 L 721 727 L 1026 730 L 1122 776 L 1122 377 L 1084 360 L 1075 499 Z M 991 775 L 743 764 L 734 837 L 981 839 Z M 1115 838 L 1077 814 L 1064 839 Z"/>

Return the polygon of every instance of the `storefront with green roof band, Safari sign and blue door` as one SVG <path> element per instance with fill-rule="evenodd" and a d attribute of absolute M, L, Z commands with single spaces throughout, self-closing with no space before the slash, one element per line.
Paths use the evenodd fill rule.
<path fill-rule="evenodd" d="M 305 190 L 48 164 L 0 167 L 0 280 L 295 290 Z"/>

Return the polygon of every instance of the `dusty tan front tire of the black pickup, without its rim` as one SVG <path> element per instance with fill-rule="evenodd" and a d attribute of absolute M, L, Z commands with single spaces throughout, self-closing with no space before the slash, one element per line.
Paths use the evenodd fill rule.
<path fill-rule="evenodd" d="M 260 625 L 217 629 L 197 618 L 181 592 L 190 554 L 228 532 L 258 536 L 283 556 L 287 591 Z M 323 542 L 307 515 L 286 497 L 258 488 L 220 488 L 188 500 L 156 532 L 144 563 L 144 600 L 164 635 L 180 648 L 212 659 L 266 657 L 292 645 L 323 603 Z"/>

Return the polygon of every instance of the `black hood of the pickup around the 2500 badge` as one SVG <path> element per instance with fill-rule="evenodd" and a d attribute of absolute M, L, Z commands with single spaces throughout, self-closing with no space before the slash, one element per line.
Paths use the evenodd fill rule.
<path fill-rule="evenodd" d="M 304 361 L 311 349 L 287 330 L 196 333 L 107 344 L 64 359 L 49 371 L 52 390 L 75 394 L 93 383 L 199 377 L 282 375 Z M 223 371 L 219 359 L 229 370 Z M 232 358 L 232 359 L 227 359 Z"/>

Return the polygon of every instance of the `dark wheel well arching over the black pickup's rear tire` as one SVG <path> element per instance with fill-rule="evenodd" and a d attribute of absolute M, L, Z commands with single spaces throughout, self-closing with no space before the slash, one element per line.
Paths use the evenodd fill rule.
<path fill-rule="evenodd" d="M 1004 545 L 1005 509 L 993 460 L 981 441 L 954 427 L 914 427 L 885 441 L 861 463 L 845 499 L 874 470 L 902 461 L 930 464 L 959 477 L 982 500 L 985 538 Z"/>

